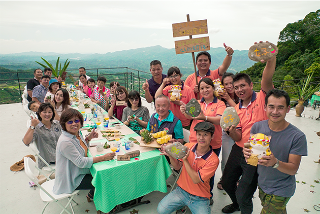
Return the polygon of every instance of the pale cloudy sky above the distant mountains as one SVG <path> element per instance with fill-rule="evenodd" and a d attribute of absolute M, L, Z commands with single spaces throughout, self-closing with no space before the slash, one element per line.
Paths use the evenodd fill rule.
<path fill-rule="evenodd" d="M 319 1 L 0 1 L 0 54 L 116 52 L 174 48 L 172 24 L 207 19 L 210 47 L 248 50 L 277 43 L 280 31 Z"/>

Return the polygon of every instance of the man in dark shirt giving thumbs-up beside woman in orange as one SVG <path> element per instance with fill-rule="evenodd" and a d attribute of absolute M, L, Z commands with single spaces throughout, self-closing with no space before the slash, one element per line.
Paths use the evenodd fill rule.
<path fill-rule="evenodd" d="M 142 85 L 142 89 L 145 90 L 145 98 L 149 103 L 155 101 L 155 92 L 161 86 L 163 80 L 168 77 L 167 75 L 162 74 L 162 70 L 162 64 L 159 60 L 153 60 L 150 62 L 150 72 L 152 77 L 150 80 L 146 80 Z"/>

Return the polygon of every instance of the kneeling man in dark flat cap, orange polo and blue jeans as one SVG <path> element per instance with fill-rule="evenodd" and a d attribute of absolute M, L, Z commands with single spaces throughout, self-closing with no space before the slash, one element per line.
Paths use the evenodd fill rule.
<path fill-rule="evenodd" d="M 195 126 L 194 131 L 197 131 L 197 142 L 184 145 L 188 149 L 182 159 L 171 157 L 165 150 L 166 145 L 161 146 L 160 152 L 170 158 L 174 169 L 179 170 L 182 166 L 182 171 L 177 188 L 158 204 L 157 212 L 160 214 L 169 214 L 184 206 L 188 206 L 192 213 L 211 213 L 209 180 L 219 165 L 219 159 L 210 146 L 214 125 L 203 121 Z"/>

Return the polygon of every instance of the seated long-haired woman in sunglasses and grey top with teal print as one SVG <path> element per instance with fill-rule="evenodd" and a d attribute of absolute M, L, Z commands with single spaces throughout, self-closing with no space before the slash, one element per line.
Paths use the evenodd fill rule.
<path fill-rule="evenodd" d="M 121 121 L 139 134 L 141 129 L 148 126 L 150 120 L 149 110 L 145 106 L 142 106 L 138 91 L 131 91 L 128 94 L 128 100 L 128 106 L 123 109 Z"/>

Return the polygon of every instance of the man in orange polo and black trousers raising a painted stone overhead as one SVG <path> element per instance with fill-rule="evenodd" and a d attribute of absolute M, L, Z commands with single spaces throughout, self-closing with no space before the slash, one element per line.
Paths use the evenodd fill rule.
<path fill-rule="evenodd" d="M 265 62 L 264 60 L 261 61 Z M 237 127 L 233 125 L 226 128 L 236 144 L 232 147 L 221 178 L 222 187 L 233 202 L 222 208 L 223 213 L 232 213 L 238 210 L 241 213 L 252 212 L 252 196 L 257 190 L 258 173 L 257 167 L 246 163 L 242 148 L 250 137 L 250 129 L 253 123 L 268 119 L 264 105 L 266 93 L 273 89 L 272 77 L 275 72 L 275 61 L 275 56 L 267 60 L 262 74 L 260 92 L 253 91 L 253 84 L 247 74 L 240 73 L 233 78 L 236 95 L 241 99 L 235 107 L 240 117 L 240 123 Z M 237 181 L 241 175 L 237 187 Z"/>

